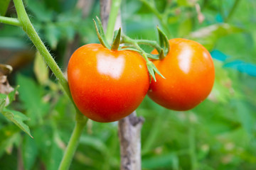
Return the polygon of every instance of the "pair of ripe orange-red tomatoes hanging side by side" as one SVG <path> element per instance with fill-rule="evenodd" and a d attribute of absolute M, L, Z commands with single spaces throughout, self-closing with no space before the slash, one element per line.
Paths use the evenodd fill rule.
<path fill-rule="evenodd" d="M 116 121 L 132 113 L 146 94 L 176 111 L 201 103 L 215 77 L 209 52 L 192 40 L 176 38 L 169 43 L 169 54 L 154 61 L 165 79 L 156 74 L 150 86 L 146 62 L 139 53 L 112 51 L 99 44 L 78 48 L 68 64 L 68 84 L 81 113 L 97 122 Z"/>

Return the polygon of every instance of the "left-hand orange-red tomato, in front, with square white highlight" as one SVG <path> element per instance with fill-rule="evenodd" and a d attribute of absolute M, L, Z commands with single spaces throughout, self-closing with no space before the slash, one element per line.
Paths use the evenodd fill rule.
<path fill-rule="evenodd" d="M 124 118 L 142 103 L 149 89 L 149 74 L 137 52 L 88 44 L 70 57 L 68 84 L 81 113 L 108 123 Z"/>

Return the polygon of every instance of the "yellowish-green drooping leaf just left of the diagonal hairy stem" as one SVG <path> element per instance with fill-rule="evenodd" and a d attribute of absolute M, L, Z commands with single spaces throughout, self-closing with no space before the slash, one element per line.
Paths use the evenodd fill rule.
<path fill-rule="evenodd" d="M 39 52 L 36 52 L 36 58 L 34 62 L 33 71 L 36 74 L 36 79 L 40 84 L 46 84 L 49 77 L 49 70 L 47 68 L 46 62 L 44 62 L 43 57 Z"/>

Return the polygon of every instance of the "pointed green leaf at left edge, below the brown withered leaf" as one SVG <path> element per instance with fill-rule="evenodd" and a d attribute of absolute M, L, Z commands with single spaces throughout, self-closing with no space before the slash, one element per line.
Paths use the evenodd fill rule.
<path fill-rule="evenodd" d="M 18 128 L 21 128 L 24 132 L 26 132 L 30 137 L 31 132 L 28 128 L 28 125 L 23 123 L 24 120 L 28 120 L 28 117 L 24 115 L 23 113 L 20 113 L 18 111 L 12 111 L 9 109 L 4 109 L 4 111 L 1 112 L 8 120 L 11 120 L 15 125 L 18 126 Z M 33 137 L 32 137 L 33 138 Z"/>

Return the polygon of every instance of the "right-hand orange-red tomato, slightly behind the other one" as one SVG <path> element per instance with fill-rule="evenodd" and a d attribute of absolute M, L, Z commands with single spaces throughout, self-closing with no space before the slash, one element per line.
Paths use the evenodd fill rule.
<path fill-rule="evenodd" d="M 213 88 L 213 60 L 208 50 L 193 40 L 174 38 L 169 43 L 169 54 L 153 62 L 166 79 L 156 74 L 148 96 L 165 108 L 188 111 L 206 99 Z"/>

